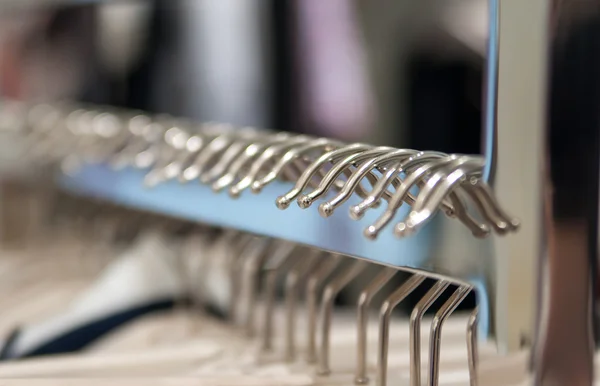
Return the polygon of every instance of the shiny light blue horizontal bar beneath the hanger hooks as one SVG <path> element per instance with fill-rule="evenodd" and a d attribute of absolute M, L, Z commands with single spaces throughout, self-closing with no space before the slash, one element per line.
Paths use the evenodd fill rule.
<path fill-rule="evenodd" d="M 117 172 L 102 165 L 92 165 L 76 175 L 61 176 L 60 183 L 75 193 L 104 198 L 127 207 L 286 239 L 385 265 L 426 270 L 470 282 L 478 292 L 481 336 L 487 336 L 489 302 L 483 259 L 457 262 L 452 258 L 460 254 L 460 250 L 446 249 L 445 256 L 436 256 L 439 248 L 433 241 L 438 239 L 436 236 L 442 225 L 457 224 L 454 220 L 439 216 L 423 231 L 408 239 L 395 238 L 390 226 L 372 241 L 363 237 L 362 231 L 383 208 L 371 210 L 360 221 L 352 221 L 348 210 L 357 202 L 356 197 L 338 208 L 332 217 L 322 218 L 316 208 L 318 202 L 315 207 L 304 210 L 295 204 L 287 210 L 275 206 L 275 198 L 291 189 L 291 184 L 275 182 L 260 194 L 245 191 L 239 199 L 232 199 L 226 193 L 216 194 L 196 182 L 182 185 L 172 181 L 155 188 L 145 188 L 144 174 L 139 170 Z M 408 208 L 402 210 L 406 213 Z M 457 226 L 462 227 L 460 224 Z M 480 248 L 482 256 L 485 256 L 486 246 L 488 244 L 477 241 L 468 248 Z"/>

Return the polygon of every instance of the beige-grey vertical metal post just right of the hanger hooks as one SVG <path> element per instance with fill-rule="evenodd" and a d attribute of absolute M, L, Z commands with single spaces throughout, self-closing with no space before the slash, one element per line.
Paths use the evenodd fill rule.
<path fill-rule="evenodd" d="M 496 106 L 488 100 L 486 108 L 486 115 L 497 114 L 497 126 L 493 119 L 485 125 L 485 153 L 495 166 L 487 174 L 500 202 L 521 220 L 519 232 L 493 240 L 493 331 L 502 352 L 532 340 L 537 304 L 547 3 L 490 0 L 488 58 L 497 60 L 497 74 L 488 74 L 487 81 L 488 87 L 494 79 L 498 84 Z M 488 72 L 493 64 L 488 63 Z"/>

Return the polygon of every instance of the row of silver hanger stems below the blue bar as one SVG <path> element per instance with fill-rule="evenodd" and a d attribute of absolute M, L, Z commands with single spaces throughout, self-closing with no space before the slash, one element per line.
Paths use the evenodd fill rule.
<path fill-rule="evenodd" d="M 55 213 L 58 215 L 52 215 L 51 218 L 62 225 L 50 227 L 49 230 L 54 229 L 55 233 L 68 235 L 71 240 L 74 237 L 78 240 L 79 247 L 83 246 L 83 249 L 75 249 L 75 256 L 78 256 L 80 261 L 83 259 L 88 263 L 96 263 L 92 264 L 96 269 L 93 270 L 92 275 L 87 276 L 88 280 L 110 266 L 111 260 L 106 261 L 106 258 L 104 264 L 97 265 L 98 260 L 101 261 L 99 257 L 102 256 L 99 251 L 110 250 L 107 246 L 126 250 L 125 245 L 135 244 L 136 239 L 138 244 L 145 240 L 149 244 L 144 251 L 158 253 L 161 248 L 158 248 L 156 242 L 151 241 L 152 237 L 149 235 L 160 234 L 161 239 L 170 239 L 162 246 L 163 251 L 171 252 L 167 254 L 171 257 L 161 257 L 170 260 L 168 265 L 161 266 L 163 270 L 161 275 L 167 274 L 169 270 L 165 270 L 165 267 L 170 264 L 171 275 L 177 276 L 177 281 L 180 282 L 180 294 L 185 294 L 178 298 L 188 299 L 188 306 L 203 310 L 204 314 L 207 310 L 212 310 L 208 312 L 212 315 L 213 324 L 224 324 L 232 328 L 238 338 L 242 338 L 247 346 L 255 349 L 254 355 L 257 357 L 254 358 L 256 361 L 252 365 L 257 368 L 269 363 L 272 365 L 273 362 L 296 366 L 302 363 L 307 369 L 314 366 L 314 370 L 307 372 L 311 377 L 313 371 L 314 374 L 318 374 L 319 382 L 345 384 L 348 378 L 340 378 L 338 375 L 338 368 L 342 367 L 342 373 L 353 371 L 353 380 L 356 384 L 368 383 L 370 377 L 375 377 L 377 384 L 385 385 L 388 352 L 398 352 L 398 350 L 402 352 L 406 349 L 404 346 L 406 344 L 409 347 L 409 356 L 405 358 L 410 364 L 407 375 L 411 385 L 421 384 L 421 379 L 428 379 L 429 384 L 439 384 L 440 366 L 443 374 L 444 368 L 460 367 L 461 363 L 468 364 L 468 377 L 465 378 L 463 375 L 459 380 L 470 379 L 471 385 L 477 384 L 477 309 L 470 317 L 457 317 L 456 320 L 449 322 L 449 327 L 446 327 L 450 331 L 447 337 L 444 336 L 443 342 L 449 341 L 450 343 L 446 345 L 452 348 L 446 351 L 445 355 L 449 363 L 443 361 L 444 350 L 441 349 L 442 326 L 471 292 L 470 286 L 432 279 L 419 272 L 406 272 L 391 267 L 379 267 L 374 274 L 369 275 L 366 268 L 373 264 L 363 260 L 238 231 L 220 230 L 155 214 L 135 212 L 102 201 L 90 201 L 65 194 L 57 196 Z M 86 221 L 83 222 L 82 219 Z M 110 229 L 111 232 L 101 233 L 98 232 L 99 229 Z M 98 238 L 98 235 L 102 234 L 105 237 Z M 168 237 L 165 239 L 163 236 Z M 44 244 L 47 248 L 47 240 L 44 240 Z M 65 253 L 53 262 L 60 267 L 59 272 L 63 271 L 63 266 L 73 266 L 72 261 L 65 259 L 69 255 Z M 25 264 L 24 261 L 21 262 Z M 48 262 L 47 256 L 30 261 L 31 267 L 39 268 L 39 262 Z M 89 268 L 89 265 L 83 266 Z M 19 272 L 22 272 L 22 267 L 19 268 Z M 399 274 L 400 272 L 404 274 Z M 370 276 L 370 279 L 367 280 L 367 284 L 356 300 L 356 316 L 350 317 L 347 310 L 343 311 L 343 309 L 340 313 L 339 308 L 338 312 L 334 312 L 336 309 L 334 301 L 340 291 L 357 277 L 365 274 Z M 71 273 L 71 276 L 77 275 Z M 394 277 L 400 280 L 394 280 Z M 64 280 L 64 275 L 61 280 Z M 390 283 L 395 284 L 395 290 L 381 302 L 379 322 L 374 324 L 369 313 L 369 309 L 372 308 L 371 303 L 375 295 Z M 419 286 L 425 286 L 429 290 L 412 310 L 410 322 L 392 318 L 393 309 Z M 387 287 L 389 289 L 389 285 Z M 277 304 L 280 288 L 283 296 L 281 304 Z M 451 293 L 451 296 L 440 305 L 439 301 L 437 303 L 435 301 L 444 292 Z M 127 297 L 126 291 L 121 296 Z M 433 308 L 436 312 L 433 319 L 423 320 L 425 312 L 434 304 Z M 105 313 L 109 311 L 114 310 L 109 308 Z M 224 322 L 215 323 L 214 316 L 225 318 L 222 319 Z M 198 317 L 197 313 L 193 316 L 193 318 Z M 342 325 L 346 336 L 341 340 L 339 337 L 333 339 L 340 318 L 344 321 Z M 421 332 L 423 323 L 430 327 L 423 328 Z M 374 325 L 376 328 L 373 328 Z M 71 326 L 72 329 L 75 327 L 77 326 Z M 350 337 L 348 335 L 352 330 L 353 336 Z M 27 328 L 23 331 L 27 331 Z M 396 334 L 401 331 L 401 337 L 394 334 L 394 331 Z M 202 334 L 202 330 L 200 333 Z M 53 338 L 60 339 L 58 336 Z M 400 347 L 398 342 L 394 342 L 394 338 L 402 342 Z M 337 349 L 336 346 L 341 348 Z M 428 350 L 424 350 L 427 346 Z M 350 349 L 355 352 L 354 355 L 348 352 Z M 448 355 L 449 352 L 453 355 Z M 455 354 L 457 352 L 466 355 Z M 490 346 L 484 346 L 484 356 L 492 356 L 492 352 Z M 423 354 L 426 360 L 422 360 Z M 349 363 L 341 365 L 343 361 L 340 357 L 353 358 L 355 365 Z M 74 364 L 88 363 L 82 367 L 81 374 L 84 374 L 84 369 L 91 366 L 90 362 L 86 361 L 91 359 L 74 358 L 71 358 Z M 108 363 L 107 372 L 110 373 L 111 368 L 118 367 L 109 358 L 104 360 Z M 152 360 L 156 359 L 151 358 L 150 361 Z M 397 360 L 392 361 L 397 363 Z M 427 364 L 423 366 L 425 362 Z M 0 365 L 0 377 L 3 377 L 3 374 L 9 377 L 23 376 L 28 368 L 33 369 L 35 375 L 36 362 L 30 363 L 28 364 L 28 361 L 8 362 Z M 38 375 L 50 371 L 43 366 L 43 359 L 39 363 L 41 367 L 37 370 Z M 50 359 L 48 363 L 52 363 L 52 360 Z M 133 363 L 137 363 L 134 366 L 136 368 L 140 366 L 139 362 L 133 361 Z M 61 366 L 63 370 L 66 368 L 71 372 L 75 371 L 74 367 L 69 367 L 68 360 L 66 364 L 59 363 L 57 366 L 54 370 L 55 375 L 60 374 Z M 68 374 L 69 371 L 66 373 Z M 427 375 L 421 374 L 422 371 Z M 334 381 L 328 381 L 329 377 L 333 377 Z"/>

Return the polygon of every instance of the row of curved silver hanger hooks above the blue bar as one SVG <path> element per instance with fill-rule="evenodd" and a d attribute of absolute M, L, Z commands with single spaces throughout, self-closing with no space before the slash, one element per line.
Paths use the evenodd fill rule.
<path fill-rule="evenodd" d="M 149 169 L 146 183 L 150 186 L 173 179 L 199 180 L 216 192 L 228 189 L 234 198 L 247 189 L 258 193 L 281 177 L 295 185 L 277 198 L 280 209 L 293 200 L 306 209 L 337 191 L 319 205 L 323 217 L 331 216 L 353 194 L 363 199 L 352 206 L 353 219 L 387 201 L 386 210 L 365 228 L 365 236 L 371 239 L 397 217 L 404 203 L 412 209 L 396 223 L 398 237 L 417 232 L 438 210 L 460 220 L 475 237 L 492 230 L 506 234 L 519 227 L 483 180 L 485 162 L 480 156 L 346 145 L 223 124 L 198 127 L 169 116 L 69 104 L 13 104 L 3 114 L 8 130 L 19 131 L 32 147 L 27 150 L 29 158 L 35 160 L 37 154 L 44 163 L 60 160 L 65 170 L 82 162 Z"/>

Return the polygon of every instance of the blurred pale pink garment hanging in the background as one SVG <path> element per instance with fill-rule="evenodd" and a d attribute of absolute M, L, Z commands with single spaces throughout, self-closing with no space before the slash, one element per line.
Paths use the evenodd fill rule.
<path fill-rule="evenodd" d="M 372 92 L 354 2 L 296 0 L 300 109 L 308 130 L 345 140 L 368 135 Z"/>

